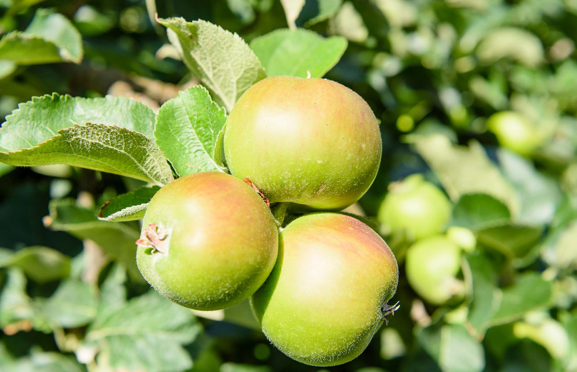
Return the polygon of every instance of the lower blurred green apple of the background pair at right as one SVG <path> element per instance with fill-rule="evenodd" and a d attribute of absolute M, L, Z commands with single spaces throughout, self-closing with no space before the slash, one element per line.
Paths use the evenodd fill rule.
<path fill-rule="evenodd" d="M 426 302 L 443 305 L 461 294 L 455 276 L 461 265 L 461 249 L 443 235 L 429 236 L 407 250 L 405 272 L 411 288 Z"/>

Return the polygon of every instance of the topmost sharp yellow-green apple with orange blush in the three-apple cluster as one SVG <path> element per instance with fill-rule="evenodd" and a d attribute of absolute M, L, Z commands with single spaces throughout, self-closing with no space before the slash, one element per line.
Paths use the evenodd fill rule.
<path fill-rule="evenodd" d="M 224 130 L 228 168 L 271 202 L 340 210 L 373 183 L 377 119 L 357 93 L 320 78 L 274 76 L 250 87 Z"/>

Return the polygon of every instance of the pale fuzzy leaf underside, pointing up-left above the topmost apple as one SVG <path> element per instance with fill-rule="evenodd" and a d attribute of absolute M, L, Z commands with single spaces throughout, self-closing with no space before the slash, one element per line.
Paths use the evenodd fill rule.
<path fill-rule="evenodd" d="M 160 18 L 158 22 L 169 29 L 168 39 L 186 66 L 227 111 L 246 89 L 267 76 L 256 55 L 236 33 L 202 20 Z"/>

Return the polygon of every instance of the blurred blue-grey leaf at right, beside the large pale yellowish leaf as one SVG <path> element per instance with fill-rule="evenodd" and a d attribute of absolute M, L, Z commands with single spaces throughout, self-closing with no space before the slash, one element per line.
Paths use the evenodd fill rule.
<path fill-rule="evenodd" d="M 520 196 L 521 208 L 516 220 L 549 223 L 561 201 L 559 183 L 538 172 L 529 160 L 507 149 L 499 148 L 497 159 L 503 174 Z"/>

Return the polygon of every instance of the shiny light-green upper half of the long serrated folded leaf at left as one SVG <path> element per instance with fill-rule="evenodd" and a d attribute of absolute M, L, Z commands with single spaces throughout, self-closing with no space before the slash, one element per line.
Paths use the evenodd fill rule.
<path fill-rule="evenodd" d="M 154 112 L 143 103 L 123 97 L 102 98 L 44 95 L 21 103 L 0 128 L 0 151 L 18 151 L 50 140 L 74 124 L 104 123 L 154 138 Z"/>

